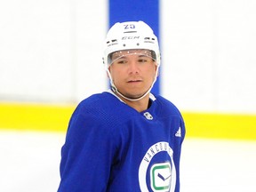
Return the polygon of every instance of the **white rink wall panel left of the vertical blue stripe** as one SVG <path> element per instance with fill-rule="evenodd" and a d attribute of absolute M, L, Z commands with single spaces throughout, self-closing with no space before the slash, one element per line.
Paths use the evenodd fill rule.
<path fill-rule="evenodd" d="M 106 89 L 107 1 L 0 1 L 0 18 L 0 100 L 69 103 Z"/>

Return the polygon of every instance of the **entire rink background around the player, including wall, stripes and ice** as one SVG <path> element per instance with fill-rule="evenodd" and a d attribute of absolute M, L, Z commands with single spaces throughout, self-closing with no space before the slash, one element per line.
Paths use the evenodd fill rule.
<path fill-rule="evenodd" d="M 191 178 L 195 170 L 197 179 L 204 179 L 200 170 L 210 175 L 209 164 L 195 164 L 213 150 L 212 158 L 244 156 L 229 167 L 241 171 L 247 164 L 236 172 L 244 181 L 234 171 L 226 184 L 255 189 L 255 8 L 252 0 L 0 1 L 0 190 L 56 191 L 69 117 L 79 101 L 108 88 L 103 42 L 118 20 L 145 20 L 159 37 L 162 66 L 153 92 L 172 100 L 185 119 L 183 167 L 191 177 L 184 188 L 200 191 Z M 228 162 L 222 160 L 222 170 Z M 47 178 L 49 185 L 36 188 Z"/>

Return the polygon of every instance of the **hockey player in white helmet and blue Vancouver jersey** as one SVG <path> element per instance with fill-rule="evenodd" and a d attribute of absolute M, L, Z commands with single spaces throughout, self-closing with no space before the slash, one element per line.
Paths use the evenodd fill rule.
<path fill-rule="evenodd" d="M 172 102 L 150 93 L 160 65 L 157 38 L 143 21 L 109 29 L 108 92 L 83 100 L 61 149 L 59 192 L 180 191 L 185 126 Z"/>

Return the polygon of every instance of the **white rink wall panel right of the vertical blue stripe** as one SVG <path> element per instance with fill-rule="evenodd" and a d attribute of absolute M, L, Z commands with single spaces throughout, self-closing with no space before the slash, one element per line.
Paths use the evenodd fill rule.
<path fill-rule="evenodd" d="M 164 95 L 189 111 L 255 114 L 256 2 L 162 5 Z"/>

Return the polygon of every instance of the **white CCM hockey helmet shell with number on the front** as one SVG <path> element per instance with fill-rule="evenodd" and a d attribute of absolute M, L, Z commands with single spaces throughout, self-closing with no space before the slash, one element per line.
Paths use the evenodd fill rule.
<path fill-rule="evenodd" d="M 157 37 L 143 21 L 117 22 L 108 30 L 104 45 L 103 63 L 106 68 L 111 64 L 111 53 L 123 50 L 150 50 L 152 58 L 160 65 L 160 51 Z"/>

